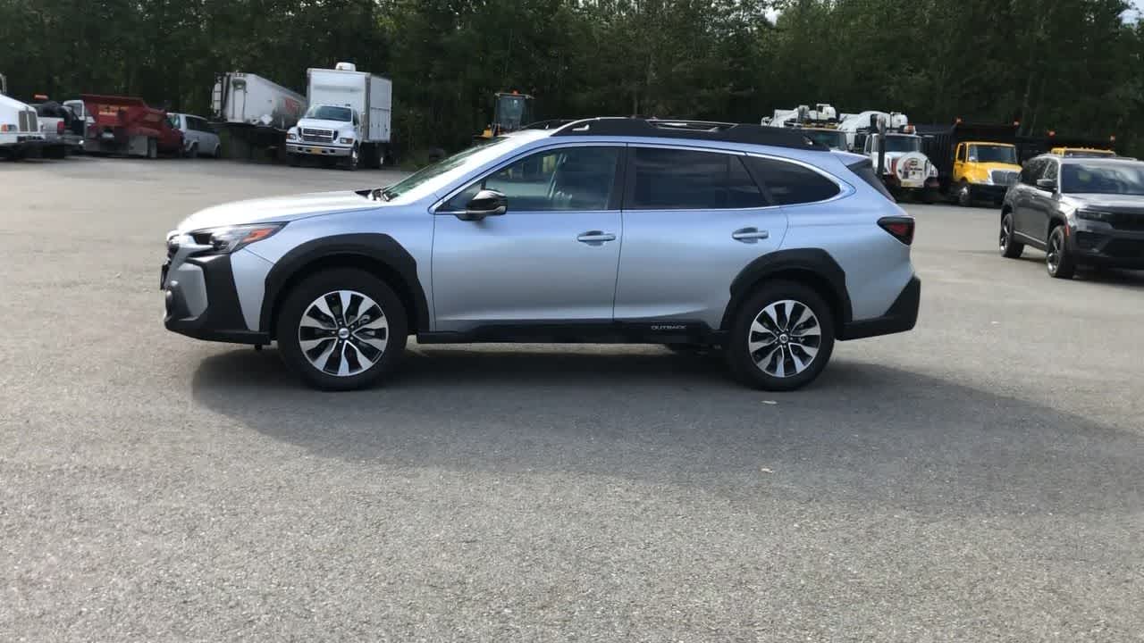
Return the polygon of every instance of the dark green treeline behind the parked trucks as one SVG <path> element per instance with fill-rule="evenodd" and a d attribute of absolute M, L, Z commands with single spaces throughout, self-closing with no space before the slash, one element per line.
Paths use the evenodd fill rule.
<path fill-rule="evenodd" d="M 304 90 L 394 79 L 406 149 L 458 148 L 492 94 L 540 116 L 757 122 L 828 102 L 915 122 L 1019 120 L 1144 150 L 1144 27 L 1122 0 L 0 0 L 10 93 L 205 113 L 217 71 Z M 778 10 L 777 18 L 772 10 Z M 772 19 L 773 18 L 773 19 Z"/>

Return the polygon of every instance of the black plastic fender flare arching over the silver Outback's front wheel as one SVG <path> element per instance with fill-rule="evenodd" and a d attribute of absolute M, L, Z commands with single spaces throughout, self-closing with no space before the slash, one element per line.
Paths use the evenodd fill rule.
<path fill-rule="evenodd" d="M 387 280 L 398 279 L 399 284 L 390 284 L 398 295 L 406 295 L 412 304 L 408 311 L 410 327 L 429 330 L 429 303 L 424 288 L 418 278 L 418 262 L 396 239 L 389 235 L 358 232 L 350 235 L 332 235 L 319 237 L 291 249 L 279 259 L 267 273 L 265 291 L 262 295 L 262 310 L 259 316 L 259 328 L 272 333 L 271 323 L 284 289 L 303 271 L 316 264 L 339 260 L 349 262 L 366 262 L 382 268 Z M 402 289 L 405 292 L 403 293 Z"/>

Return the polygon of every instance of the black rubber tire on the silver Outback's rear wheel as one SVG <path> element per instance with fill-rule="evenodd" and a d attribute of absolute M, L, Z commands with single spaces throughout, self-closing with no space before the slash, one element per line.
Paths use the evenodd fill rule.
<path fill-rule="evenodd" d="M 773 328 L 777 333 L 770 333 L 774 336 L 774 341 L 764 348 L 756 349 L 753 355 L 749 348 L 750 341 L 765 341 L 766 335 L 752 331 L 752 325 L 756 318 L 764 315 L 771 304 L 784 301 L 796 302 L 795 305 L 791 307 L 791 313 L 796 318 L 787 318 L 787 325 L 782 327 L 781 322 L 786 318 L 786 305 L 776 307 L 782 309 L 782 313 L 778 319 L 780 325 Z M 809 320 L 804 320 L 801 325 L 801 336 L 804 338 L 804 343 L 784 341 L 800 336 L 792 333 L 792 331 L 796 331 L 792 323 L 796 323 L 803 317 L 799 305 L 805 307 L 813 313 L 815 325 L 807 326 Z M 812 347 L 810 342 L 813 336 L 811 331 L 815 330 L 818 331 L 817 347 Z M 748 296 L 734 315 L 726 349 L 728 365 L 736 378 L 750 387 L 771 391 L 795 390 L 812 382 L 826 367 L 831 360 L 831 354 L 834 351 L 834 311 L 812 288 L 797 281 L 779 280 L 765 284 Z M 771 348 L 772 346 L 774 348 Z M 810 356 L 809 363 L 805 362 L 809 355 L 807 348 L 816 349 L 816 352 Z M 760 362 L 756 363 L 756 359 Z M 796 368 L 797 362 L 802 362 L 804 368 L 796 370 L 793 375 L 787 375 L 786 371 Z M 769 371 L 774 371 L 774 373 Z M 780 372 L 781 375 L 779 375 Z"/>

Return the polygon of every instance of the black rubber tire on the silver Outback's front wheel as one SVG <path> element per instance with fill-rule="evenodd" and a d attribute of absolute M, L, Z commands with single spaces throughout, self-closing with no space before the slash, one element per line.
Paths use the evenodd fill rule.
<path fill-rule="evenodd" d="M 358 373 L 351 373 L 347 375 L 332 374 L 324 371 L 310 362 L 310 357 L 303 351 L 301 346 L 300 327 L 303 315 L 307 315 L 308 310 L 311 308 L 319 297 L 327 293 L 333 293 L 336 291 L 355 291 L 362 295 L 365 295 L 376 302 L 378 307 L 381 309 L 381 315 L 384 317 L 388 330 L 386 333 L 386 344 L 380 352 L 380 356 L 375 357 L 375 362 L 371 366 L 365 367 Z M 350 299 L 350 307 L 353 305 L 352 299 Z M 327 308 L 331 312 L 335 315 L 342 315 L 342 311 L 335 305 L 329 305 Z M 364 315 L 364 313 L 363 313 Z M 359 317 L 360 318 L 360 317 Z M 379 317 L 374 317 L 379 319 Z M 279 352 L 281 352 L 283 359 L 286 364 L 293 368 L 296 373 L 302 376 L 302 380 L 310 384 L 311 387 L 319 388 L 323 390 L 355 390 L 366 388 L 374 384 L 380 379 L 384 378 L 394 371 L 397 363 L 402 358 L 402 354 L 405 351 L 405 341 L 407 335 L 408 323 L 406 320 L 405 307 L 402 304 L 402 300 L 394 293 L 384 281 L 370 275 L 368 272 L 355 269 L 332 269 L 318 272 L 311 277 L 308 277 L 301 284 L 295 286 L 287 295 L 285 302 L 283 302 L 281 310 L 278 315 L 277 320 L 277 340 Z M 353 322 L 348 325 L 344 324 L 345 319 L 339 318 L 339 330 L 347 326 L 352 327 Z M 355 339 L 357 335 L 353 335 Z M 378 338 L 375 338 L 378 339 Z M 312 341 L 312 340 L 311 340 Z M 365 358 L 366 352 L 364 349 L 362 351 L 353 347 L 362 346 L 360 342 L 344 341 L 337 339 L 337 336 L 331 336 L 329 341 L 334 342 L 333 347 L 329 344 L 316 344 L 311 348 L 311 354 L 315 349 L 320 349 L 325 351 L 332 348 L 331 360 L 326 362 L 326 366 L 331 367 L 331 363 L 334 366 L 340 366 L 342 358 L 334 358 L 333 352 L 337 352 L 339 347 L 342 350 L 347 347 L 343 344 L 351 344 L 349 358 L 345 358 L 345 363 L 351 365 L 357 363 L 360 367 L 360 359 Z M 340 352 L 339 355 L 347 355 L 345 352 Z M 318 356 L 316 356 L 317 358 Z"/>

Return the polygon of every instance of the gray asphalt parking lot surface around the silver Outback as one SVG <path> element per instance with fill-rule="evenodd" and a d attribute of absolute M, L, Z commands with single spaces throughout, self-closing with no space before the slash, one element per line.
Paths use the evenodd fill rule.
<path fill-rule="evenodd" d="M 388 387 L 166 332 L 164 236 L 390 173 L 0 164 L 0 641 L 1139 641 L 1144 272 L 919 220 L 917 328 L 811 388 L 659 347 Z"/>

